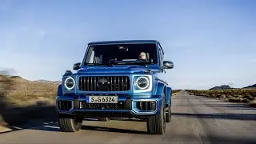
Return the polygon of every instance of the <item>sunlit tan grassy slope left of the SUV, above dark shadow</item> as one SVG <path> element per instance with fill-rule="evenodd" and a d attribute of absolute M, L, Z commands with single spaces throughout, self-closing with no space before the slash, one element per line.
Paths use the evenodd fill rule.
<path fill-rule="evenodd" d="M 0 74 L 0 92 L 5 92 L 6 101 L 16 105 L 30 105 L 34 102 L 53 102 L 57 95 L 60 81 L 30 81 L 20 76 L 5 76 Z M 5 90 L 6 87 L 11 87 Z M 1 95 L 0 95 L 1 96 Z"/>

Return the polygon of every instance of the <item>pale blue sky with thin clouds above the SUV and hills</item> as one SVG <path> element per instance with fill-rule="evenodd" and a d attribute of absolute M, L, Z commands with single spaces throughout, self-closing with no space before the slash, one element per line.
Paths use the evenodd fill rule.
<path fill-rule="evenodd" d="M 173 89 L 256 83 L 254 0 L 0 1 L 0 68 L 60 80 L 86 44 L 157 39 Z"/>

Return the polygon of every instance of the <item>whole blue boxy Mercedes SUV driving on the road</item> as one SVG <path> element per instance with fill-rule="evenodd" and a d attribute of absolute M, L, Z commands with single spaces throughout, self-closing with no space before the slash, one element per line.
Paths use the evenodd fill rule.
<path fill-rule="evenodd" d="M 140 118 L 149 134 L 165 134 L 172 89 L 162 76 L 173 67 L 156 40 L 88 43 L 75 73 L 66 70 L 58 86 L 60 129 L 78 131 L 83 118 Z"/>

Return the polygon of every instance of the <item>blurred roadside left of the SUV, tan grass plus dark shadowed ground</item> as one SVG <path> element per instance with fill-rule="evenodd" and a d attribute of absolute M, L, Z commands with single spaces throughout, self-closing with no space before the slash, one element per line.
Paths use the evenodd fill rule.
<path fill-rule="evenodd" d="M 0 74 L 0 122 L 15 125 L 54 116 L 58 84 L 31 82 Z"/>

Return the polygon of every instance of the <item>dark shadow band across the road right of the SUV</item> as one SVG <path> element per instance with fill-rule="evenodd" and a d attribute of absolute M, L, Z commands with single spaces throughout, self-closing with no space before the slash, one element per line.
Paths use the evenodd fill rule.
<path fill-rule="evenodd" d="M 256 114 L 189 114 L 189 113 L 172 113 L 174 116 L 183 118 L 212 118 L 212 119 L 230 119 L 243 121 L 256 121 Z"/>

